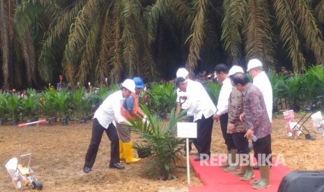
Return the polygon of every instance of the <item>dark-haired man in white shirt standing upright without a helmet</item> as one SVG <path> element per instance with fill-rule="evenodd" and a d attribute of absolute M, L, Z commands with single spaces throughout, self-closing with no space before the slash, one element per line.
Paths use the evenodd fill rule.
<path fill-rule="evenodd" d="M 226 162 L 223 163 L 220 167 L 227 168 L 230 166 L 229 160 L 233 160 L 236 157 L 236 145 L 234 144 L 232 134 L 227 133 L 227 124 L 229 122 L 229 95 L 232 92 L 232 84 L 231 79 L 229 79 L 229 68 L 220 63 L 215 67 L 215 77 L 217 77 L 217 81 L 222 84 L 222 88 L 220 89 L 220 93 L 217 101 L 217 112 L 214 115 L 214 120 L 220 122 L 220 127 L 222 129 L 222 135 L 227 147 L 228 157 Z"/>

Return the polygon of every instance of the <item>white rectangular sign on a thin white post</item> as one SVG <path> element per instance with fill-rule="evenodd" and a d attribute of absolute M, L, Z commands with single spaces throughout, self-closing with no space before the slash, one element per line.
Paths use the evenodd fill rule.
<path fill-rule="evenodd" d="M 190 185 L 189 138 L 197 138 L 197 124 L 196 122 L 178 122 L 177 131 L 179 138 L 186 138 L 187 182 Z"/>

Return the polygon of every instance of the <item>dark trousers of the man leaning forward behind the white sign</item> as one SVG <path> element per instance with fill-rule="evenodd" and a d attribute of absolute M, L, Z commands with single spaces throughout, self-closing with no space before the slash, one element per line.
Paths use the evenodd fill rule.
<path fill-rule="evenodd" d="M 197 123 L 197 138 L 194 139 L 194 145 L 197 147 L 199 154 L 210 155 L 210 144 L 212 142 L 213 115 L 209 118 L 202 116 Z"/>

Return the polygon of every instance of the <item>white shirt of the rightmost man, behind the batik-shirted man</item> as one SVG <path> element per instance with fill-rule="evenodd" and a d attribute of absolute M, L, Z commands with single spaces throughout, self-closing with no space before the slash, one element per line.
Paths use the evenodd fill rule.
<path fill-rule="evenodd" d="M 267 112 L 270 122 L 272 122 L 272 86 L 265 72 L 261 72 L 253 78 L 253 84 L 259 90 L 264 98 L 265 106 L 267 107 Z"/>

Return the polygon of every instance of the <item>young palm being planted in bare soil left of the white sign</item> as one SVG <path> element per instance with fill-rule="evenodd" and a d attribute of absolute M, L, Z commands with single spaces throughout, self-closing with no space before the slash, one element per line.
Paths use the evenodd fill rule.
<path fill-rule="evenodd" d="M 141 119 L 129 119 L 132 124 L 130 129 L 145 140 L 145 143 L 134 145 L 134 148 L 151 152 L 150 163 L 155 169 L 151 174 L 157 175 L 162 180 L 172 179 L 174 177 L 172 170 L 180 153 L 180 145 L 185 143 L 183 138 L 177 138 L 176 125 L 185 118 L 187 112 L 182 111 L 176 115 L 175 110 L 172 109 L 169 122 L 164 122 L 156 114 L 151 114 L 146 106 L 142 109 L 149 123 Z"/>

